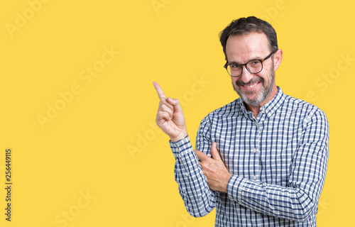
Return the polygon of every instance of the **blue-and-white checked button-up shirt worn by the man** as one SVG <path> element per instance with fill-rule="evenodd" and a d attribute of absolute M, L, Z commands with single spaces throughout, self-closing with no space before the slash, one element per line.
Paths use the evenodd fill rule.
<path fill-rule="evenodd" d="M 192 216 L 205 216 L 216 207 L 215 226 L 317 226 L 328 140 L 324 112 L 278 87 L 257 118 L 239 98 L 200 124 L 196 150 L 211 157 L 217 142 L 232 174 L 226 193 L 209 189 L 188 136 L 170 141 L 170 148 L 175 180 Z"/>

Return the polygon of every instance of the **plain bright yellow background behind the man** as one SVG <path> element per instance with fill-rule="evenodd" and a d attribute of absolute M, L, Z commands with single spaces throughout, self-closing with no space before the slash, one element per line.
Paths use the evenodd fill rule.
<path fill-rule="evenodd" d="M 31 8 L 28 2 L 36 1 L 0 4 L 0 226 L 214 226 L 215 211 L 186 216 L 168 137 L 154 126 L 152 82 L 185 102 L 195 140 L 202 118 L 238 97 L 218 33 L 251 15 L 278 33 L 284 56 L 276 84 L 329 119 L 318 226 L 351 225 L 354 3 L 47 0 Z M 24 13 L 26 22 L 18 19 Z M 21 27 L 9 29 L 16 20 Z M 111 62 L 103 65 L 103 56 Z M 80 77 L 90 67 L 102 72 Z M 72 86 L 80 93 L 63 102 L 59 93 Z M 55 104 L 61 110 L 41 127 L 38 116 L 48 117 Z M 12 149 L 11 223 L 4 215 L 6 148 Z"/>

